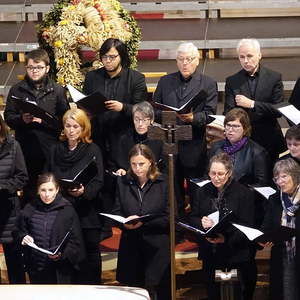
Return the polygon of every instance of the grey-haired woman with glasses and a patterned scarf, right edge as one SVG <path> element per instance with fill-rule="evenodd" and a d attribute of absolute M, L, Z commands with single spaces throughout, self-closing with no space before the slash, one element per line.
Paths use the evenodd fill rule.
<path fill-rule="evenodd" d="M 272 246 L 270 260 L 270 299 L 298 300 L 300 287 L 300 166 L 293 158 L 275 163 L 274 181 L 279 191 L 270 196 L 262 231 L 280 225 L 296 229 L 296 236 Z"/>

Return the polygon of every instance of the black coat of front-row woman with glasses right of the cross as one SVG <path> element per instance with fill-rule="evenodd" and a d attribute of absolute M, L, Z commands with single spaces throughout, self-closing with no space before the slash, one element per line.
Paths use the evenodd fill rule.
<path fill-rule="evenodd" d="M 217 198 L 217 189 L 208 183 L 198 189 L 190 216 L 191 224 L 203 230 L 201 219 L 216 208 L 213 201 Z M 254 201 L 253 193 L 238 182 L 232 181 L 224 193 L 226 207 L 233 211 L 234 221 L 253 227 Z M 254 259 L 254 248 L 247 237 L 239 230 L 230 226 L 222 232 L 225 236 L 224 244 L 216 246 L 201 238 L 199 243 L 199 257 L 209 261 L 216 268 L 236 267 L 239 263 L 249 262 Z M 213 248 L 215 247 L 215 250 Z"/>

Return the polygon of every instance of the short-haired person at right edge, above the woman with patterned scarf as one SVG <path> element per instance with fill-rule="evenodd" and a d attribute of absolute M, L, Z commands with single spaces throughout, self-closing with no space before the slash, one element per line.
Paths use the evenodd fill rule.
<path fill-rule="evenodd" d="M 290 157 L 300 164 L 300 125 L 290 127 L 285 134 L 285 140 L 290 153 L 280 159 Z"/>

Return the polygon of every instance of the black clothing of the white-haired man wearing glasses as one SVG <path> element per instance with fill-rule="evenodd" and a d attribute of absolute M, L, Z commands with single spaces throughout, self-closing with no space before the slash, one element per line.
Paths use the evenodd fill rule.
<path fill-rule="evenodd" d="M 203 163 L 206 157 L 205 126 L 209 122 L 208 115 L 215 114 L 218 102 L 218 91 L 216 82 L 208 76 L 195 72 L 183 94 L 180 96 L 178 87 L 182 85 L 180 72 L 168 74 L 162 77 L 154 93 L 154 101 L 173 107 L 180 107 L 196 96 L 201 90 L 207 93 L 193 110 L 194 120 L 192 122 L 193 139 L 191 141 L 179 142 L 179 159 L 183 166 L 195 168 Z M 160 122 L 159 112 L 157 118 Z M 183 123 L 179 121 L 178 124 Z"/>

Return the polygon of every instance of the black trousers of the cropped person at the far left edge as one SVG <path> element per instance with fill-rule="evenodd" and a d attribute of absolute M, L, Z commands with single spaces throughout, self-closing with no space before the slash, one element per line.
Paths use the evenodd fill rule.
<path fill-rule="evenodd" d="M 21 247 L 14 242 L 2 244 L 5 263 L 7 266 L 8 280 L 11 284 L 24 284 L 25 270 Z"/>

